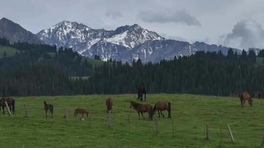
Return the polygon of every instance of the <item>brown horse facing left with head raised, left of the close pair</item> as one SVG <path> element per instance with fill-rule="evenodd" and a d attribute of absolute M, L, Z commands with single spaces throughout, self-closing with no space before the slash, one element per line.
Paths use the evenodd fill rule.
<path fill-rule="evenodd" d="M 130 101 L 130 108 L 135 109 L 138 113 L 138 120 L 140 120 L 139 112 L 141 113 L 143 119 L 145 120 L 145 117 L 143 116 L 142 112 L 148 112 L 149 119 L 152 120 L 152 106 L 150 104 L 140 104 L 133 101 Z"/>

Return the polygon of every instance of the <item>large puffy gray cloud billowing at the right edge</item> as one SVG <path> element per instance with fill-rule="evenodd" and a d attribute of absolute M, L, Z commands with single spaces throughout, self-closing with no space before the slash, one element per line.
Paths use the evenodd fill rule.
<path fill-rule="evenodd" d="M 223 39 L 224 38 L 224 39 Z M 232 32 L 221 36 L 224 46 L 248 50 L 250 47 L 264 47 L 264 30 L 254 19 L 239 21 Z"/>

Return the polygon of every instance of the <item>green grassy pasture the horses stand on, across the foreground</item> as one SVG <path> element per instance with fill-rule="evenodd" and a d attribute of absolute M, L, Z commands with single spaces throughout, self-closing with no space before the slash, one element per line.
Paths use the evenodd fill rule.
<path fill-rule="evenodd" d="M 111 128 L 105 105 L 108 97 L 114 100 Z M 139 121 L 136 111 L 129 108 L 129 100 L 136 100 L 133 94 L 14 98 L 16 117 L 0 114 L 0 148 L 260 148 L 264 132 L 261 99 L 255 99 L 252 108 L 247 102 L 241 108 L 238 98 L 150 94 L 147 103 L 154 105 L 163 100 L 172 103 L 172 119 L 158 118 L 160 132 L 156 133 L 154 121 Z M 54 118 L 50 121 L 44 117 L 44 100 L 54 105 Z M 23 117 L 24 103 L 28 106 L 28 118 Z M 68 122 L 63 118 L 65 107 L 69 111 Z M 74 121 L 75 108 L 87 108 L 91 112 L 90 126 L 87 118 L 84 122 Z M 168 115 L 167 111 L 163 114 Z M 146 113 L 144 116 L 148 118 Z M 211 140 L 205 139 L 206 124 Z M 232 129 L 234 143 L 227 124 Z"/>

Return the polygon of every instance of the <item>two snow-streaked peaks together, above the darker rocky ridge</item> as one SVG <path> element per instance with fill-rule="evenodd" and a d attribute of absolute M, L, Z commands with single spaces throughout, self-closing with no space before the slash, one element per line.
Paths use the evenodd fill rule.
<path fill-rule="evenodd" d="M 70 21 L 62 21 L 49 29 L 44 29 L 37 36 L 46 44 L 73 48 L 80 54 L 88 51 L 99 40 L 130 49 L 148 40 L 164 40 L 157 33 L 143 29 L 137 24 L 107 31 L 92 29 L 84 24 Z"/>

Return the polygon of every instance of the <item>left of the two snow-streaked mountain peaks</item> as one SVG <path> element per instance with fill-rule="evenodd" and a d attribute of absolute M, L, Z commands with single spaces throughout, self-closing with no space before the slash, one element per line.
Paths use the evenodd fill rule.
<path fill-rule="evenodd" d="M 62 21 L 49 29 L 40 31 L 37 36 L 46 44 L 72 48 L 82 54 L 93 44 L 104 37 L 110 36 L 110 34 L 112 34 L 112 31 L 91 29 L 77 22 Z"/>

